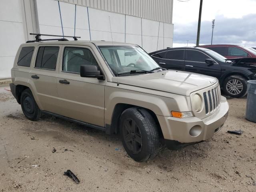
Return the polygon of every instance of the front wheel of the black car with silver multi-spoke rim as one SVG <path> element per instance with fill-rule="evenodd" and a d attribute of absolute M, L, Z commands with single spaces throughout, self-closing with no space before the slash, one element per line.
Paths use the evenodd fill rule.
<path fill-rule="evenodd" d="M 228 76 L 224 80 L 222 88 L 228 96 L 240 98 L 247 94 L 247 80 L 240 75 Z"/>

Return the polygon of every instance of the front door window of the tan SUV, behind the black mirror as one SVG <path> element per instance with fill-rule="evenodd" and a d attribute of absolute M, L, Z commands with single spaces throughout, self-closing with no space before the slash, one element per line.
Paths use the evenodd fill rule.
<path fill-rule="evenodd" d="M 81 65 L 96 65 L 92 52 L 87 48 L 66 47 L 64 50 L 62 71 L 80 73 Z"/>

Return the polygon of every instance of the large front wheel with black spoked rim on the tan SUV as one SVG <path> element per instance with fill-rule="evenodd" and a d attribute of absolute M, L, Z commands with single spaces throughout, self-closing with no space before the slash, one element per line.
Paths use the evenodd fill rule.
<path fill-rule="evenodd" d="M 160 149 L 157 124 L 143 108 L 124 110 L 120 117 L 120 133 L 126 152 L 137 162 L 154 158 Z"/>

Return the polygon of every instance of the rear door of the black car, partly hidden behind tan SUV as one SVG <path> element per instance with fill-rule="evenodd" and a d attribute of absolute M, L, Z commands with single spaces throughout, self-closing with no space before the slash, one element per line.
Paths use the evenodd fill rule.
<path fill-rule="evenodd" d="M 167 50 L 152 55 L 154 60 L 163 68 L 184 70 L 184 49 Z"/>

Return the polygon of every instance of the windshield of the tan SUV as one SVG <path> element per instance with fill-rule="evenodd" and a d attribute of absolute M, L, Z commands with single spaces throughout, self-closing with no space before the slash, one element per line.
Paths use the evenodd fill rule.
<path fill-rule="evenodd" d="M 129 75 L 132 70 L 150 71 L 159 67 L 142 48 L 137 46 L 112 45 L 99 48 L 115 75 Z"/>

